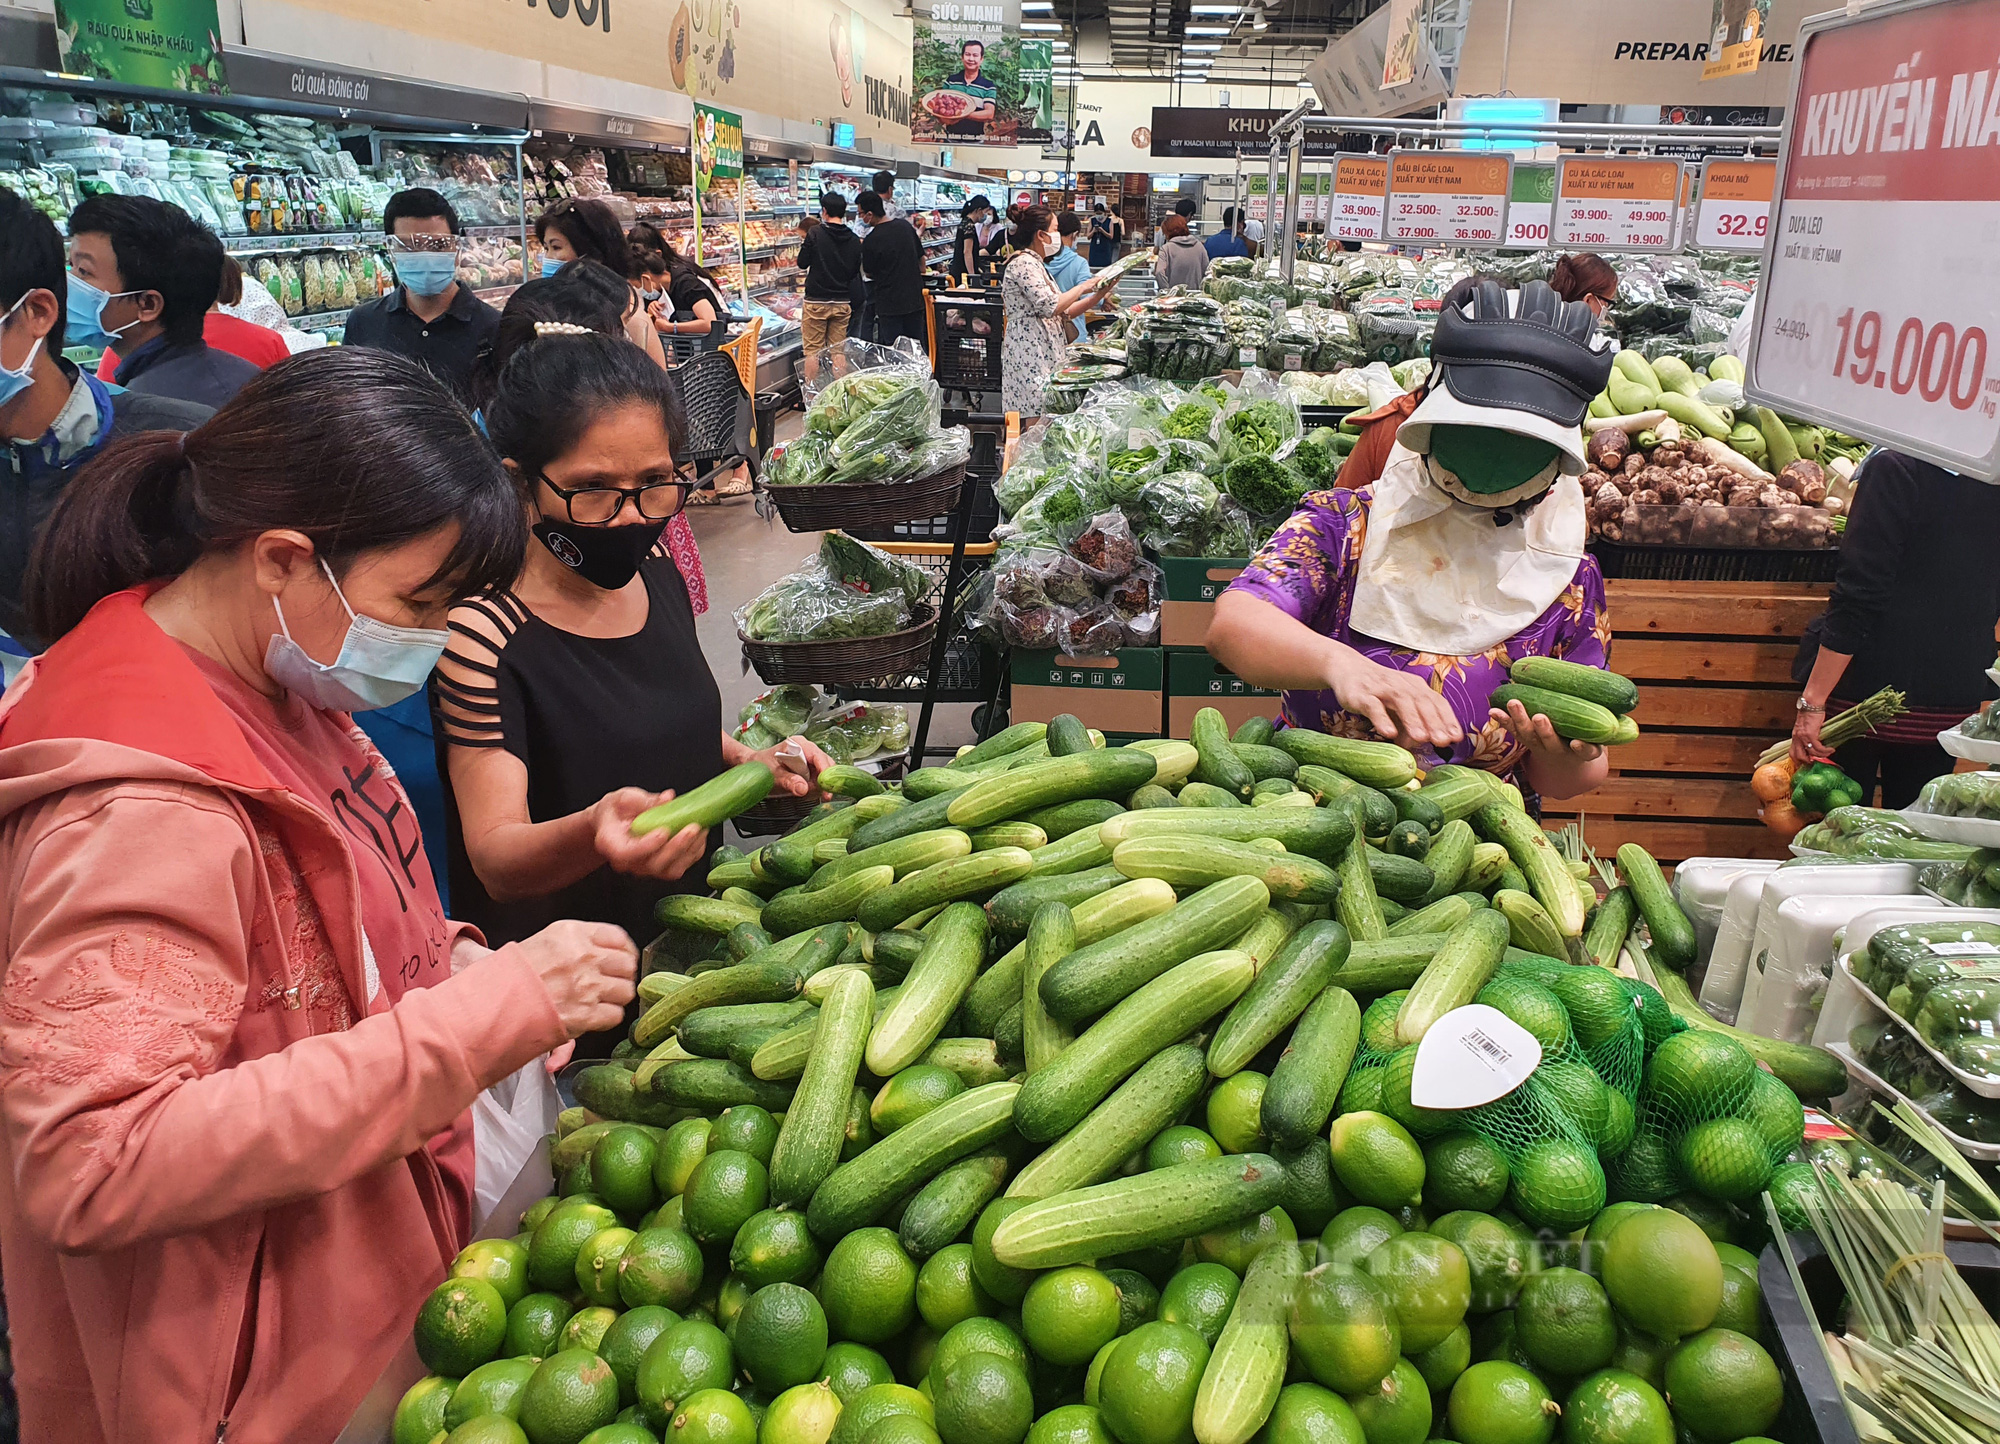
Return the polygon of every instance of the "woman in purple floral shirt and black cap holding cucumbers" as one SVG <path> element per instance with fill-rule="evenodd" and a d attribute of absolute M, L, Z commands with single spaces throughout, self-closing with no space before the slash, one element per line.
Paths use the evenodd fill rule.
<path fill-rule="evenodd" d="M 1308 494 L 1224 592 L 1208 648 L 1284 690 L 1290 726 L 1394 738 L 1426 766 L 1578 796 L 1604 780 L 1604 748 L 1490 698 L 1524 656 L 1608 666 L 1576 476 L 1610 354 L 1584 306 L 1536 282 L 1446 308 L 1432 358 L 1382 478 Z"/>

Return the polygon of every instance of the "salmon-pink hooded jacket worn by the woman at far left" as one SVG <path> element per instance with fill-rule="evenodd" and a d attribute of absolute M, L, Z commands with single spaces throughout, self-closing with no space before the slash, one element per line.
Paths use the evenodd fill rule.
<path fill-rule="evenodd" d="M 512 946 L 388 1004 L 346 840 L 142 596 L 0 704 L 22 1438 L 332 1440 L 458 1246 L 426 1140 L 564 1028 Z"/>

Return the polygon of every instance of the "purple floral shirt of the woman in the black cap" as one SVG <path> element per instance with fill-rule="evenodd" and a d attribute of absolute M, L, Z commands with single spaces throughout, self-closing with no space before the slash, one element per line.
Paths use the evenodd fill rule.
<path fill-rule="evenodd" d="M 1352 646 L 1370 662 L 1430 682 L 1430 688 L 1452 704 L 1466 736 L 1450 748 L 1450 756 L 1420 752 L 1418 762 L 1426 768 L 1466 762 L 1488 772 L 1514 772 L 1524 750 L 1488 716 L 1488 698 L 1506 682 L 1508 664 L 1522 656 L 1560 656 L 1586 666 L 1608 666 L 1612 624 L 1604 606 L 1604 574 L 1598 570 L 1598 560 L 1584 556 L 1576 564 L 1576 578 L 1532 626 L 1478 656 L 1438 656 L 1390 646 L 1360 636 L 1348 622 L 1372 500 L 1372 488 L 1308 492 L 1264 550 L 1250 558 L 1244 574 L 1230 582 L 1230 590 L 1270 602 L 1320 636 Z M 1332 692 L 1286 692 L 1284 720 L 1334 736 L 1376 736 L 1368 718 L 1344 710 Z"/>

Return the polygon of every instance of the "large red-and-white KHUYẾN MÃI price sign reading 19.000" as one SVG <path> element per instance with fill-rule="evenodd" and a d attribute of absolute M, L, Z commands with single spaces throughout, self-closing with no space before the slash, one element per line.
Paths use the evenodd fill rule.
<path fill-rule="evenodd" d="M 2000 0 L 1800 30 L 1750 344 L 1760 400 L 2000 480 Z"/>

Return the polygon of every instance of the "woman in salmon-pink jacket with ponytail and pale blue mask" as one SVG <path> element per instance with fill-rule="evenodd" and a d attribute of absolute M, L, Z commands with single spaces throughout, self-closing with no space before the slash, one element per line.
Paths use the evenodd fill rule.
<path fill-rule="evenodd" d="M 0 702 L 0 1258 L 22 1438 L 332 1440 L 470 1224 L 474 1096 L 634 950 L 444 918 L 348 712 L 504 584 L 520 494 L 414 362 L 282 362 L 110 448 Z"/>

